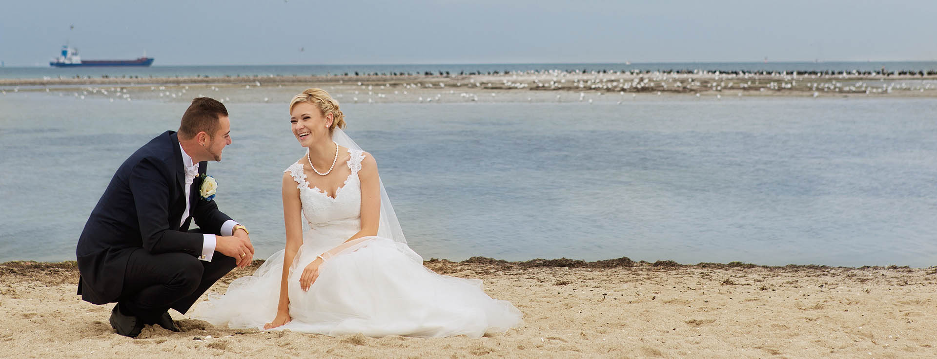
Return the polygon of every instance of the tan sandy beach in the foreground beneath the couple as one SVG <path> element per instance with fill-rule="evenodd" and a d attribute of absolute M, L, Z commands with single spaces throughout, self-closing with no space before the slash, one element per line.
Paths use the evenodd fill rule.
<path fill-rule="evenodd" d="M 235 270 L 212 293 L 260 265 Z M 229 329 L 171 314 L 183 329 L 121 337 L 112 306 L 75 294 L 74 262 L 0 264 L 0 342 L 9 358 L 932 358 L 937 268 L 752 266 L 627 258 L 586 263 L 430 260 L 481 279 L 525 323 L 503 335 L 327 337 Z M 204 296 L 202 297 L 204 300 Z M 198 305 L 197 305 L 198 306 Z M 198 307 L 196 307 L 197 309 Z"/>

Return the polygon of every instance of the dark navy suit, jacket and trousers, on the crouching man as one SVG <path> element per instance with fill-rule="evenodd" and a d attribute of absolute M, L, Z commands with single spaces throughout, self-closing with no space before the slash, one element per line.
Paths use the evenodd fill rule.
<path fill-rule="evenodd" d="M 199 164 L 200 174 L 207 166 Z M 185 313 L 231 271 L 235 260 L 219 252 L 212 262 L 199 260 L 202 233 L 218 234 L 231 218 L 215 201 L 201 198 L 201 176 L 192 183 L 189 198 L 185 185 L 182 151 L 173 131 L 156 136 L 124 161 L 78 240 L 78 294 L 83 300 L 120 302 L 126 306 L 122 309 L 141 317 L 169 308 Z M 190 217 L 180 226 L 186 200 Z M 199 230 L 187 230 L 191 219 Z"/>

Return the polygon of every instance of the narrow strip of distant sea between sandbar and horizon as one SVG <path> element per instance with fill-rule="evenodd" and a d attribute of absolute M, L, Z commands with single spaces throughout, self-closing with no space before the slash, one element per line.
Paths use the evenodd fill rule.
<path fill-rule="evenodd" d="M 42 79 L 138 76 L 141 78 L 171 77 L 226 77 L 226 76 L 306 76 L 370 73 L 424 73 L 439 71 L 450 74 L 460 72 L 505 72 L 505 71 L 937 71 L 937 62 L 867 62 L 867 63 L 646 63 L 646 64 L 478 64 L 478 65 L 229 65 L 229 66 L 160 66 L 158 59 L 152 67 L 0 67 L 0 79 Z"/>

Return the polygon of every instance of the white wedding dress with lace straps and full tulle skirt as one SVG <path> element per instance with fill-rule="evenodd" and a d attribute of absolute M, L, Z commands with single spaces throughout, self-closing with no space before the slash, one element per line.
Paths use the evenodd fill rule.
<path fill-rule="evenodd" d="M 482 280 L 439 275 L 423 266 L 423 258 L 406 243 L 387 237 L 365 237 L 329 258 L 320 266 L 319 278 L 309 291 L 300 289 L 305 266 L 361 228 L 358 171 L 364 153 L 349 153 L 351 174 L 334 198 L 309 188 L 302 164 L 284 171 L 296 180 L 303 215 L 311 229 L 304 232 L 303 246 L 290 269 L 292 321 L 275 330 L 329 336 L 482 337 L 503 333 L 521 322 L 523 314 L 511 303 L 484 294 Z M 272 322 L 279 300 L 283 252 L 268 258 L 253 276 L 232 281 L 227 294 L 210 295 L 196 317 L 232 328 L 262 329 L 264 323 Z"/>

